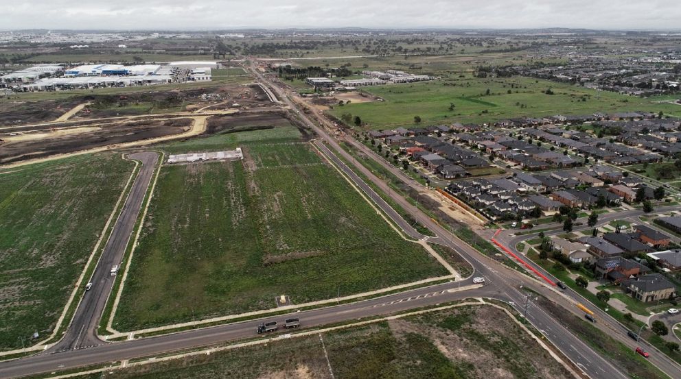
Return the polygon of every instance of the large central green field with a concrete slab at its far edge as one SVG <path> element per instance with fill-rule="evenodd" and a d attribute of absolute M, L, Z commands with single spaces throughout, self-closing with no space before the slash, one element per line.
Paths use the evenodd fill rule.
<path fill-rule="evenodd" d="M 163 167 L 115 328 L 274 308 L 282 294 L 301 304 L 447 274 L 310 145 L 273 144 L 273 131 L 206 138 L 235 138 L 222 148 L 250 140 L 241 145 L 243 163 Z"/>

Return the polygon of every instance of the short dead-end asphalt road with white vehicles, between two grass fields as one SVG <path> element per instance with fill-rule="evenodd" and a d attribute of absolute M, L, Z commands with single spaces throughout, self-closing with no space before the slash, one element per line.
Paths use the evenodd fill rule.
<path fill-rule="evenodd" d="M 159 154 L 142 152 L 130 154 L 129 158 L 141 161 L 141 168 L 97 262 L 90 280 L 92 288 L 84 293 L 64 337 L 50 351 L 80 349 L 102 343 L 97 337 L 97 325 L 115 279 L 111 276 L 111 267 L 121 263 Z"/>

